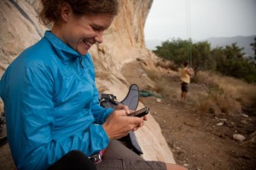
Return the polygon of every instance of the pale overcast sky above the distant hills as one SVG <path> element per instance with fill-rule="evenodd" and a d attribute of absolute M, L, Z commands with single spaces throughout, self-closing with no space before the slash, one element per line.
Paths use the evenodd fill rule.
<path fill-rule="evenodd" d="M 256 35 L 256 0 L 154 0 L 144 27 L 147 41 Z"/>

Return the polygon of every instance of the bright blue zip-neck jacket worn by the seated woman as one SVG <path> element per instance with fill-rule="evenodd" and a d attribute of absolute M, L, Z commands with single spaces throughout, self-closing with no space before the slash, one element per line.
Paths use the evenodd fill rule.
<path fill-rule="evenodd" d="M 90 54 L 81 55 L 46 31 L 5 71 L 0 94 L 18 169 L 46 169 L 71 150 L 90 156 L 109 139 L 102 123 Z"/>

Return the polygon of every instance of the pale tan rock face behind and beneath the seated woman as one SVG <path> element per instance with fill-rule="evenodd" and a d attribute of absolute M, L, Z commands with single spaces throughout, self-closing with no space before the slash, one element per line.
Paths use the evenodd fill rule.
<path fill-rule="evenodd" d="M 143 34 L 153 0 L 119 2 L 119 15 L 105 32 L 103 43 L 91 48 L 90 54 L 96 66 L 96 83 L 99 91 L 112 93 L 118 99 L 124 99 L 130 84 L 121 74 L 123 65 L 138 58 L 149 60 L 155 57 L 145 48 Z M 40 7 L 39 0 L 0 1 L 0 77 L 21 51 L 44 36 L 47 28 L 38 22 L 37 17 Z M 143 105 L 140 104 L 139 107 Z M 2 102 L 0 109 L 3 111 Z M 160 133 L 160 127 L 152 116 L 148 116 L 148 122 L 136 132 L 136 135 L 145 160 L 175 162 Z"/>

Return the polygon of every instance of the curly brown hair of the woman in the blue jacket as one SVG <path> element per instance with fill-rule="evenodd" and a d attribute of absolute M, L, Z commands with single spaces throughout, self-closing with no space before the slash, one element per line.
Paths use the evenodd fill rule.
<path fill-rule="evenodd" d="M 73 14 L 118 14 L 119 0 L 41 0 L 43 9 L 39 19 L 45 26 L 59 20 L 61 17 L 60 4 L 68 3 Z"/>

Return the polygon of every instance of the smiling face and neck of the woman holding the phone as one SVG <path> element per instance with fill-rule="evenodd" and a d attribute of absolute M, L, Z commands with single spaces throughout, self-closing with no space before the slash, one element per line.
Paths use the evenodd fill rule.
<path fill-rule="evenodd" d="M 113 16 L 108 14 L 75 16 L 69 13 L 64 17 L 64 22 L 52 32 L 66 42 L 79 54 L 86 54 L 96 42 L 102 43 L 103 31 L 108 29 L 113 21 Z"/>

